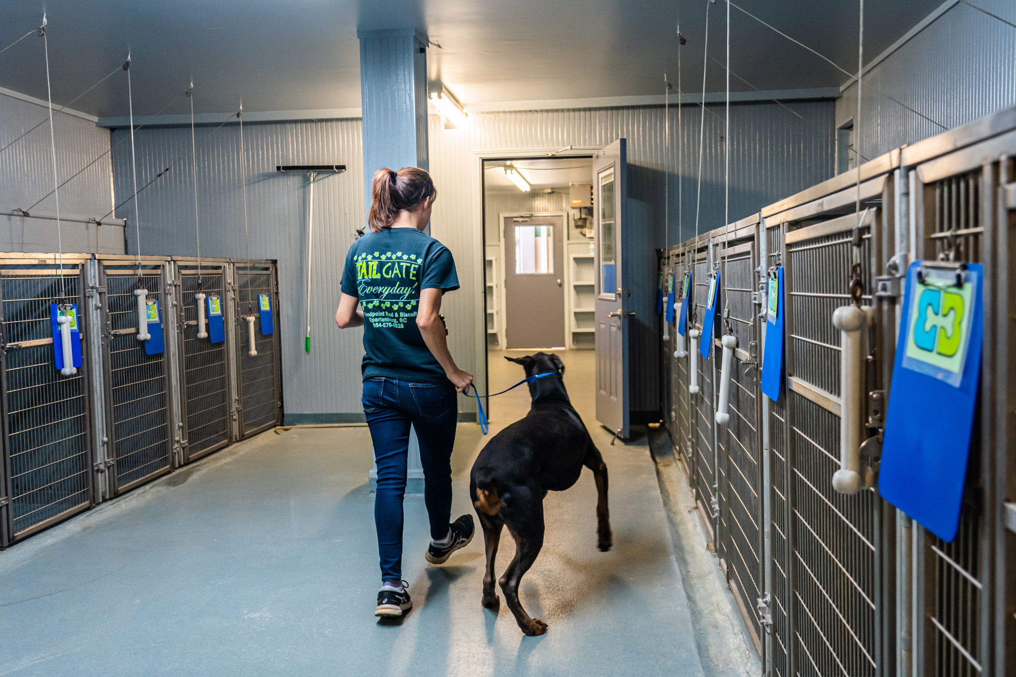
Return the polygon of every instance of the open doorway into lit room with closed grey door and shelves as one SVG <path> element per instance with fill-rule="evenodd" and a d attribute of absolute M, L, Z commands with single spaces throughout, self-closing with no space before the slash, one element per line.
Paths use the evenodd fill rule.
<path fill-rule="evenodd" d="M 591 350 L 592 158 L 483 162 L 488 350 Z"/>

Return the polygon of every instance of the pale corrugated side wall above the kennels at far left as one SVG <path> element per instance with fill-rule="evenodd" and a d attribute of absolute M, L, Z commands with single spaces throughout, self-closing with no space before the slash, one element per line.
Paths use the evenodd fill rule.
<path fill-rule="evenodd" d="M 14 208 L 27 209 L 53 190 L 49 111 L 44 106 L 0 94 L 0 148 L 41 122 L 44 124 L 9 148 L 0 151 L 0 212 L 10 212 Z M 67 114 L 55 114 L 53 123 L 57 146 L 57 177 L 60 183 L 107 153 L 60 189 L 60 213 L 65 216 L 102 217 L 110 210 L 112 201 L 109 130 L 100 129 L 93 122 Z M 56 201 L 50 196 L 31 211 L 55 214 Z M 107 226 L 111 232 L 103 233 L 103 245 L 109 244 L 108 235 L 112 234 L 113 228 L 116 228 L 116 233 L 122 239 L 119 226 Z M 65 221 L 61 223 L 61 230 L 66 238 L 65 251 L 96 251 L 93 247 L 87 247 L 96 241 L 94 224 Z M 47 245 L 50 240 L 52 242 Z M 0 249 L 15 252 L 56 250 L 56 222 L 0 216 Z M 105 253 L 112 253 L 109 249 L 101 248 Z M 122 244 L 119 244 L 119 251 L 123 251 Z"/>

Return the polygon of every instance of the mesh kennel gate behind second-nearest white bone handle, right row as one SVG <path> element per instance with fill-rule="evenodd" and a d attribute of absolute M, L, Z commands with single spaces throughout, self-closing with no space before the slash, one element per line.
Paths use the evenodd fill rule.
<path fill-rule="evenodd" d="M 723 308 L 738 338 L 732 361 L 729 421 L 718 426 L 716 444 L 724 458 L 722 495 L 722 551 L 727 577 L 739 596 L 745 622 L 761 654 L 761 627 L 754 613 L 762 597 L 762 465 L 758 432 L 758 370 L 756 309 L 753 301 L 755 247 L 748 243 L 726 250 L 723 262 Z M 724 328 L 723 334 L 727 331 Z M 718 348 L 715 348 L 718 350 Z"/>

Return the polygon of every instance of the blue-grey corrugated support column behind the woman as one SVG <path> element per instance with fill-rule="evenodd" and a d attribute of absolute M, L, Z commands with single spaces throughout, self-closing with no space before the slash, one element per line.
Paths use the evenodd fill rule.
<path fill-rule="evenodd" d="M 363 106 L 364 215 L 374 173 L 403 166 L 430 171 L 427 138 L 427 38 L 414 28 L 358 30 Z M 407 493 L 424 492 L 416 430 L 409 432 Z M 371 469 L 373 488 L 377 467 Z"/>

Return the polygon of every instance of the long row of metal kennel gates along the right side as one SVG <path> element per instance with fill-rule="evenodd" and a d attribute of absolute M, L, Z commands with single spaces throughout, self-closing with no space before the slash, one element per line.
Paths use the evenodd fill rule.
<path fill-rule="evenodd" d="M 664 274 L 694 268 L 699 328 L 704 274 L 718 262 L 727 280 L 739 342 L 729 423 L 711 417 L 714 357 L 697 360 L 701 392 L 690 393 L 690 362 L 675 355 L 677 337 L 663 346 L 662 418 L 768 674 L 1016 674 L 1008 650 L 1016 642 L 1016 462 L 1009 460 L 1016 374 L 1008 368 L 1016 355 L 1009 300 L 1016 293 L 1009 274 L 1016 260 L 1014 130 L 1016 109 L 1002 111 L 766 207 L 754 232 L 745 219 L 661 259 Z M 951 543 L 911 525 L 876 489 L 832 490 L 840 384 L 839 335 L 830 319 L 849 297 L 854 256 L 862 302 L 874 316 L 863 375 L 869 434 L 883 425 L 907 261 L 951 256 L 985 264 L 980 418 Z M 754 269 L 746 277 L 748 260 Z M 761 309 L 771 265 L 784 267 L 786 293 L 778 402 L 752 380 L 764 320 L 743 308 L 747 300 L 749 310 Z M 717 318 L 713 337 L 701 338 L 714 341 L 714 350 L 724 319 Z M 744 349 L 750 329 L 755 353 Z"/>

